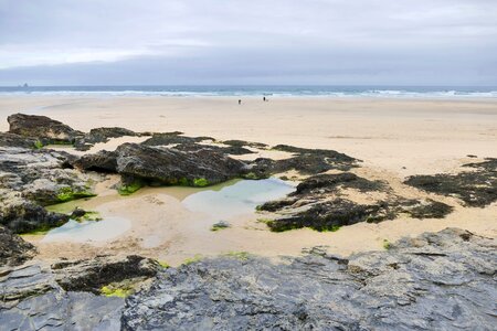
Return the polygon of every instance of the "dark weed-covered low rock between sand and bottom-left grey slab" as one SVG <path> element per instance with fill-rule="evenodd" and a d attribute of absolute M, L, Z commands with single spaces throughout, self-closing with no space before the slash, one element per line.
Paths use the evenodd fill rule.
<path fill-rule="evenodd" d="M 57 284 L 66 291 L 99 293 L 110 282 L 157 274 L 159 264 L 152 259 L 130 255 L 126 257 L 98 256 L 94 259 L 66 260 L 52 265 Z"/>

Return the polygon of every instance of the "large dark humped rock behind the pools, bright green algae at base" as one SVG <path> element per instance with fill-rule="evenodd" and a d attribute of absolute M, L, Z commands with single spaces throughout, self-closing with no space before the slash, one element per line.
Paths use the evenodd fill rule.
<path fill-rule="evenodd" d="M 184 137 L 183 137 L 184 138 Z M 74 166 L 82 170 L 117 172 L 123 184 L 205 186 L 240 177 L 246 166 L 210 147 L 191 150 L 124 143 L 116 151 L 84 156 Z"/>

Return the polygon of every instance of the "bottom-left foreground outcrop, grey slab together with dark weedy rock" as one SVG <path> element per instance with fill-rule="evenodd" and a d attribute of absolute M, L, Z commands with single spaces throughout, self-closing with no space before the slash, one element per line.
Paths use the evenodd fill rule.
<path fill-rule="evenodd" d="M 120 330 L 121 297 L 99 287 L 121 279 L 147 279 L 157 263 L 142 257 L 99 257 L 41 263 L 0 273 L 1 330 Z"/>

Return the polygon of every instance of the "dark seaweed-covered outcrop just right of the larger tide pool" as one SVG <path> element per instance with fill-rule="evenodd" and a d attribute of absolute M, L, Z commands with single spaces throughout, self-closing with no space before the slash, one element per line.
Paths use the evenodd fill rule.
<path fill-rule="evenodd" d="M 350 189 L 359 194 L 382 192 L 387 197 L 368 204 L 358 203 L 342 197 L 343 191 Z M 343 172 L 307 178 L 287 197 L 269 201 L 258 210 L 281 214 L 275 220 L 266 221 L 266 224 L 272 231 L 282 232 L 302 227 L 337 231 L 340 226 L 359 222 L 393 220 L 400 213 L 415 218 L 442 218 L 451 213 L 453 207 L 433 200 L 401 197 L 394 194 L 387 183 Z"/>

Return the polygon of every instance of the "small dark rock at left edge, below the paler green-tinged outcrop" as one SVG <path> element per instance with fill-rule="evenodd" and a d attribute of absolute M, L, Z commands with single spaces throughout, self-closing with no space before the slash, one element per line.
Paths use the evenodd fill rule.
<path fill-rule="evenodd" d="M 0 225 L 0 267 L 18 266 L 34 256 L 35 248 Z"/>

